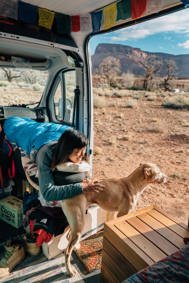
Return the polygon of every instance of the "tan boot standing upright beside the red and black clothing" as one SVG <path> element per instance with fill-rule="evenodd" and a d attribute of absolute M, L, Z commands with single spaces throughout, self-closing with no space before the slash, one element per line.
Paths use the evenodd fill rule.
<path fill-rule="evenodd" d="M 36 237 L 33 232 L 24 234 L 22 238 L 24 240 L 24 250 L 29 256 L 39 256 L 41 254 L 40 247 L 36 243 Z"/>

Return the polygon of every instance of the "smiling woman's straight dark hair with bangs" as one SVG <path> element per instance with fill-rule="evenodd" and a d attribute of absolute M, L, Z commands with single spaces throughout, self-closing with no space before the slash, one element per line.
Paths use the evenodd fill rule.
<path fill-rule="evenodd" d="M 53 160 L 51 162 L 51 169 L 54 169 L 60 164 L 68 161 L 70 155 L 75 148 L 84 148 L 88 145 L 88 138 L 79 130 L 67 129 L 61 135 L 58 143 L 54 147 Z M 86 151 L 82 160 L 89 162 L 89 156 Z"/>

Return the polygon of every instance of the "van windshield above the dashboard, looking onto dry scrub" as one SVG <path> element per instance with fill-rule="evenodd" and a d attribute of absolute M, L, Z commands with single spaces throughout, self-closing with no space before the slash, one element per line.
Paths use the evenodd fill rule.
<path fill-rule="evenodd" d="M 25 104 L 34 108 L 39 104 L 48 71 L 0 68 L 0 105 L 14 106 Z"/>

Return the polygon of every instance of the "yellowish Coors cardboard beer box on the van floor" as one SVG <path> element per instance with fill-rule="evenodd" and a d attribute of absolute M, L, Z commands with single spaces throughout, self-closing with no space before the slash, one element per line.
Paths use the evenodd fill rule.
<path fill-rule="evenodd" d="M 23 224 L 22 200 L 8 196 L 0 200 L 0 219 L 19 228 Z"/>

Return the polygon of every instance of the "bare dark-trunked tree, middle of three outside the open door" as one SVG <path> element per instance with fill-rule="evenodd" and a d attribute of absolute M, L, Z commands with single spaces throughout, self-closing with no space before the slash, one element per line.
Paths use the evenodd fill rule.
<path fill-rule="evenodd" d="M 155 72 L 160 70 L 160 68 L 162 66 L 162 61 L 156 60 L 155 56 L 152 55 L 152 56 L 146 58 L 144 62 L 140 62 L 140 63 L 146 69 L 143 87 L 145 89 L 147 89 L 148 88 L 148 82 L 150 80 L 153 80 L 155 78 Z"/>

